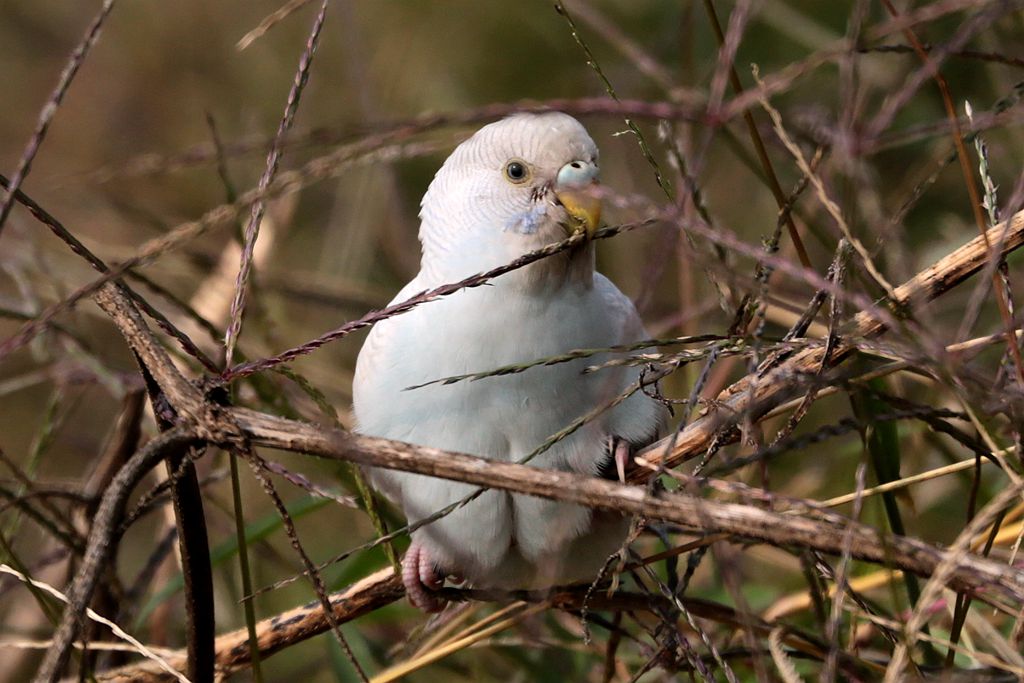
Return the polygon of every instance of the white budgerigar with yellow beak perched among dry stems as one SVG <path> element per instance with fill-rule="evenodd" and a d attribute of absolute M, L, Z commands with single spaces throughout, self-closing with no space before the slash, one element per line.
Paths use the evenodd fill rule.
<path fill-rule="evenodd" d="M 420 204 L 420 270 L 394 302 L 508 263 L 600 225 L 598 150 L 559 112 L 518 113 L 459 144 Z M 379 322 L 356 361 L 358 433 L 520 462 L 552 435 L 637 384 L 640 370 L 584 373 L 608 356 L 452 384 L 441 378 L 646 338 L 633 302 L 595 270 L 594 242 Z M 662 401 L 636 391 L 529 465 L 612 478 L 664 430 Z M 410 523 L 477 490 L 473 484 L 368 468 Z M 572 504 L 488 489 L 412 533 L 401 560 L 410 601 L 443 609 L 445 580 L 496 590 L 593 581 L 629 520 Z"/>

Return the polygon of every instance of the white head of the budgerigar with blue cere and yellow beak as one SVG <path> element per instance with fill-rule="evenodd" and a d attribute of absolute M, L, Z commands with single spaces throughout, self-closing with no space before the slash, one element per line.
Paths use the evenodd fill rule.
<path fill-rule="evenodd" d="M 594 140 L 565 114 L 515 114 L 484 126 L 452 153 L 423 198 L 424 266 L 470 274 L 574 231 L 592 236 L 601 217 L 597 160 Z"/>

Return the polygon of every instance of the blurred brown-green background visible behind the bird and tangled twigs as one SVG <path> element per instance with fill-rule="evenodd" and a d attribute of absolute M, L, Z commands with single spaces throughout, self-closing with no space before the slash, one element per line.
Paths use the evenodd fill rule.
<path fill-rule="evenodd" d="M 902 11 L 919 12 L 922 20 L 914 30 L 923 42 L 959 41 L 952 46 L 957 53 L 946 55 L 942 73 L 958 114 L 965 100 L 974 106 L 974 128 L 982 131 L 988 146 L 988 173 L 998 186 L 999 209 L 1004 217 L 1010 215 L 1024 196 L 1022 114 L 1017 103 L 1024 79 L 1024 15 L 1007 2 L 899 4 Z M 118 3 L 56 112 L 23 189 L 89 249 L 116 262 L 254 187 L 318 3 L 299 8 L 240 49 L 240 40 L 280 5 L 280 0 Z M 622 99 L 674 102 L 680 111 L 693 113 L 705 112 L 709 101 L 733 101 L 725 72 L 719 69 L 718 41 L 700 2 L 573 0 L 565 5 Z M 0 173 L 5 176 L 17 167 L 41 109 L 98 7 L 96 2 L 0 0 L 0 65 L 7 83 L 0 108 Z M 765 0 L 719 2 L 715 7 L 724 27 L 730 16 L 739 15 L 742 30 L 734 60 L 739 80 L 746 88 L 755 85 L 754 63 L 762 77 L 776 79 L 779 87 L 772 103 L 783 124 L 808 159 L 816 150 L 823 151 L 820 169 L 828 193 L 889 282 L 903 282 L 977 234 L 961 169 L 956 163 L 943 165 L 952 144 L 939 91 L 927 74 L 921 77 L 919 58 L 890 24 L 882 3 Z M 853 36 L 863 50 L 844 49 L 846 36 Z M 703 117 L 670 125 L 637 119 L 667 178 L 665 191 L 636 137 L 624 134 L 624 117 L 611 106 L 601 79 L 587 62 L 565 18 L 546 1 L 332 2 L 282 161 L 283 170 L 294 170 L 334 155 L 332 170 L 328 177 L 307 179 L 297 191 L 269 204 L 241 352 L 249 358 L 269 355 L 385 305 L 418 268 L 417 211 L 423 191 L 455 144 L 486 120 L 480 108 L 494 103 L 604 98 L 606 112 L 577 113 L 601 148 L 604 183 L 630 200 L 620 204 L 633 205 L 609 209 L 609 224 L 642 218 L 649 209 L 635 208 L 641 198 L 647 206 L 687 205 L 689 193 L 679 164 L 683 159 L 716 229 L 755 247 L 772 234 L 778 207 L 738 112 L 731 111 L 724 122 Z M 572 106 L 565 109 L 572 112 Z M 581 103 L 578 109 L 588 106 Z M 750 111 L 788 194 L 801 172 L 765 112 L 757 104 Z M 426 118 L 434 114 L 473 123 L 440 125 Z M 384 135 L 401 123 L 411 123 L 412 132 Z M 964 126 L 973 129 L 966 120 Z M 381 134 L 380 143 L 373 141 L 375 134 Z M 360 141 L 366 142 L 362 148 L 357 146 Z M 969 147 L 973 155 L 973 145 Z M 354 151 L 347 154 L 348 148 Z M 974 168 L 977 158 L 971 163 Z M 688 206 L 687 214 L 693 215 L 692 204 Z M 839 238 L 835 221 L 813 190 L 802 196 L 795 218 L 814 269 L 824 274 Z M 140 269 L 157 289 L 133 281 L 133 287 L 214 357 L 220 340 L 190 321 L 181 304 L 224 330 L 238 268 L 238 225 L 215 226 L 160 255 Z M 754 260 L 728 251 L 719 260 L 710 244 L 682 238 L 671 225 L 605 241 L 598 252 L 600 269 L 637 300 L 655 337 L 725 333 L 740 297 L 758 291 Z M 779 256 L 799 263 L 785 236 Z M 1016 285 L 1019 260 L 1010 263 L 1009 278 Z M 0 343 L 94 276 L 81 258 L 15 207 L 0 232 Z M 866 282 L 857 272 L 850 287 L 877 296 L 879 291 Z M 998 331 L 990 296 L 977 295 L 977 322 L 965 313 L 974 305 L 973 289 L 974 283 L 969 283 L 920 312 L 934 340 L 948 344 Z M 774 276 L 764 335 L 781 337 L 813 292 L 799 278 Z M 826 312 L 818 323 L 827 325 Z M 329 344 L 292 366 L 346 426 L 352 368 L 364 336 Z M 177 352 L 173 342 L 168 347 Z M 977 372 L 994 375 L 999 353 L 996 348 L 981 354 Z M 203 372 L 194 359 L 178 356 L 193 376 Z M 701 394 L 715 396 L 745 367 L 741 358 L 717 364 Z M 666 380 L 665 392 L 686 397 L 699 370 L 699 364 L 682 368 Z M 4 460 L 39 486 L 81 489 L 108 447 L 126 392 L 137 386 L 135 375 L 122 338 L 94 304 L 83 302 L 59 314 L 31 343 L 0 358 Z M 310 393 L 295 382 L 274 374 L 263 379 L 269 393 L 244 383 L 237 387 L 239 400 L 266 412 L 330 423 Z M 947 387 L 932 381 L 897 376 L 887 382 L 893 392 L 921 402 L 942 407 L 951 401 Z M 811 432 L 851 414 L 846 396 L 825 398 L 815 404 L 801 430 Z M 1000 438 L 1006 436 L 1004 428 L 1001 423 L 993 426 Z M 152 418 L 143 420 L 142 429 L 156 433 Z M 904 474 L 969 455 L 916 423 L 900 423 L 899 439 Z M 750 451 L 736 446 L 730 453 Z M 344 468 L 296 455 L 265 455 L 339 496 L 351 493 L 345 489 Z M 853 432 L 773 461 L 771 484 L 788 496 L 815 500 L 848 493 L 862 457 L 860 437 Z M 219 632 L 244 625 L 224 468 L 220 453 L 209 454 L 201 465 L 201 474 L 210 478 L 206 513 Z M 749 482 L 760 481 L 758 476 L 745 470 L 736 475 Z M 0 483 L 11 495 L 27 485 L 10 468 L 0 471 Z M 915 487 L 903 500 L 907 532 L 936 543 L 954 539 L 966 516 L 965 492 L 970 485 L 964 474 Z M 984 497 L 996 482 L 984 479 L 983 485 Z M 315 561 L 373 537 L 361 512 L 311 497 L 284 480 L 279 486 Z M 298 559 L 273 508 L 246 472 L 243 500 L 255 585 L 296 573 Z M 866 503 L 862 518 L 884 524 L 881 503 Z M 180 572 L 166 548 L 162 556 L 154 554 L 157 541 L 172 527 L 166 506 L 140 520 L 122 542 L 118 570 L 125 587 L 140 571 L 150 571 L 138 586 L 126 626 L 145 642 L 179 647 Z M 7 505 L 0 510 L 0 531 L 6 546 L 0 556 L 16 558 L 39 579 L 58 587 L 66 584 L 69 565 L 54 559 L 59 543 L 36 521 Z M 653 538 L 640 544 L 651 552 L 662 548 Z M 325 577 L 338 588 L 385 563 L 379 551 L 358 553 L 326 570 Z M 755 611 L 804 586 L 794 556 L 769 547 L 745 551 L 737 571 Z M 0 637 L 48 637 L 50 627 L 24 587 L 5 581 L 0 590 Z M 711 562 L 699 565 L 689 594 L 734 602 Z M 312 597 L 308 584 L 293 583 L 261 595 L 255 602 L 257 616 Z M 879 599 L 888 600 L 885 590 Z M 892 608 L 898 611 L 898 604 Z M 482 615 L 490 607 L 475 609 Z M 379 671 L 402 653 L 403 643 L 422 625 L 423 617 L 402 603 L 348 625 L 345 633 L 360 661 Z M 627 673 L 617 672 L 625 676 L 618 680 L 629 680 L 651 656 L 643 629 L 630 630 L 637 642 L 622 646 Z M 578 618 L 543 613 L 496 636 L 486 647 L 460 651 L 412 674 L 410 680 L 602 680 L 606 639 L 606 631 L 596 630 L 594 641 L 586 643 Z M 24 680 L 36 656 L 32 650 L 7 648 L 0 655 L 0 679 Z M 336 642 L 321 636 L 268 659 L 264 674 L 267 680 L 349 680 L 347 667 Z M 643 680 L 665 675 L 654 671 Z"/>

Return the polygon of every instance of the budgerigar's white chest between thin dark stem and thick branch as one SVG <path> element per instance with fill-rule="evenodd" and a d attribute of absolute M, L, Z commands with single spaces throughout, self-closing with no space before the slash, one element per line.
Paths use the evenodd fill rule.
<path fill-rule="evenodd" d="M 622 370 L 582 373 L 601 357 L 408 389 L 621 342 L 621 322 L 609 315 L 593 288 L 563 289 L 559 296 L 537 297 L 500 285 L 477 288 L 382 323 L 368 341 L 373 357 L 369 364 L 360 358 L 357 371 L 372 373 L 360 388 L 367 395 L 356 397 L 360 431 L 518 460 L 617 395 L 628 383 Z M 606 422 L 606 416 L 598 418 L 595 426 Z M 571 442 L 580 445 L 579 440 Z M 575 460 L 573 450 L 554 449 L 543 464 L 580 469 L 567 462 Z"/>

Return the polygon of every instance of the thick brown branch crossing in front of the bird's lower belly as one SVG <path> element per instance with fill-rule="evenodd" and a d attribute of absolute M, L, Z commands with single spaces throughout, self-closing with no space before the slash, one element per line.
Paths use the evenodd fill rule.
<path fill-rule="evenodd" d="M 260 445 L 638 514 L 706 533 L 728 533 L 824 553 L 842 553 L 849 535 L 853 557 L 923 577 L 931 575 L 948 557 L 946 551 L 936 546 L 884 536 L 853 521 L 838 523 L 834 519 L 803 518 L 683 494 L 652 496 L 640 486 L 360 436 L 242 408 L 230 409 L 228 413 L 246 436 Z M 1015 602 L 1024 602 L 1024 571 L 974 555 L 957 557 L 952 563 L 956 567 L 951 578 L 954 587 L 962 590 L 983 588 Z"/>

